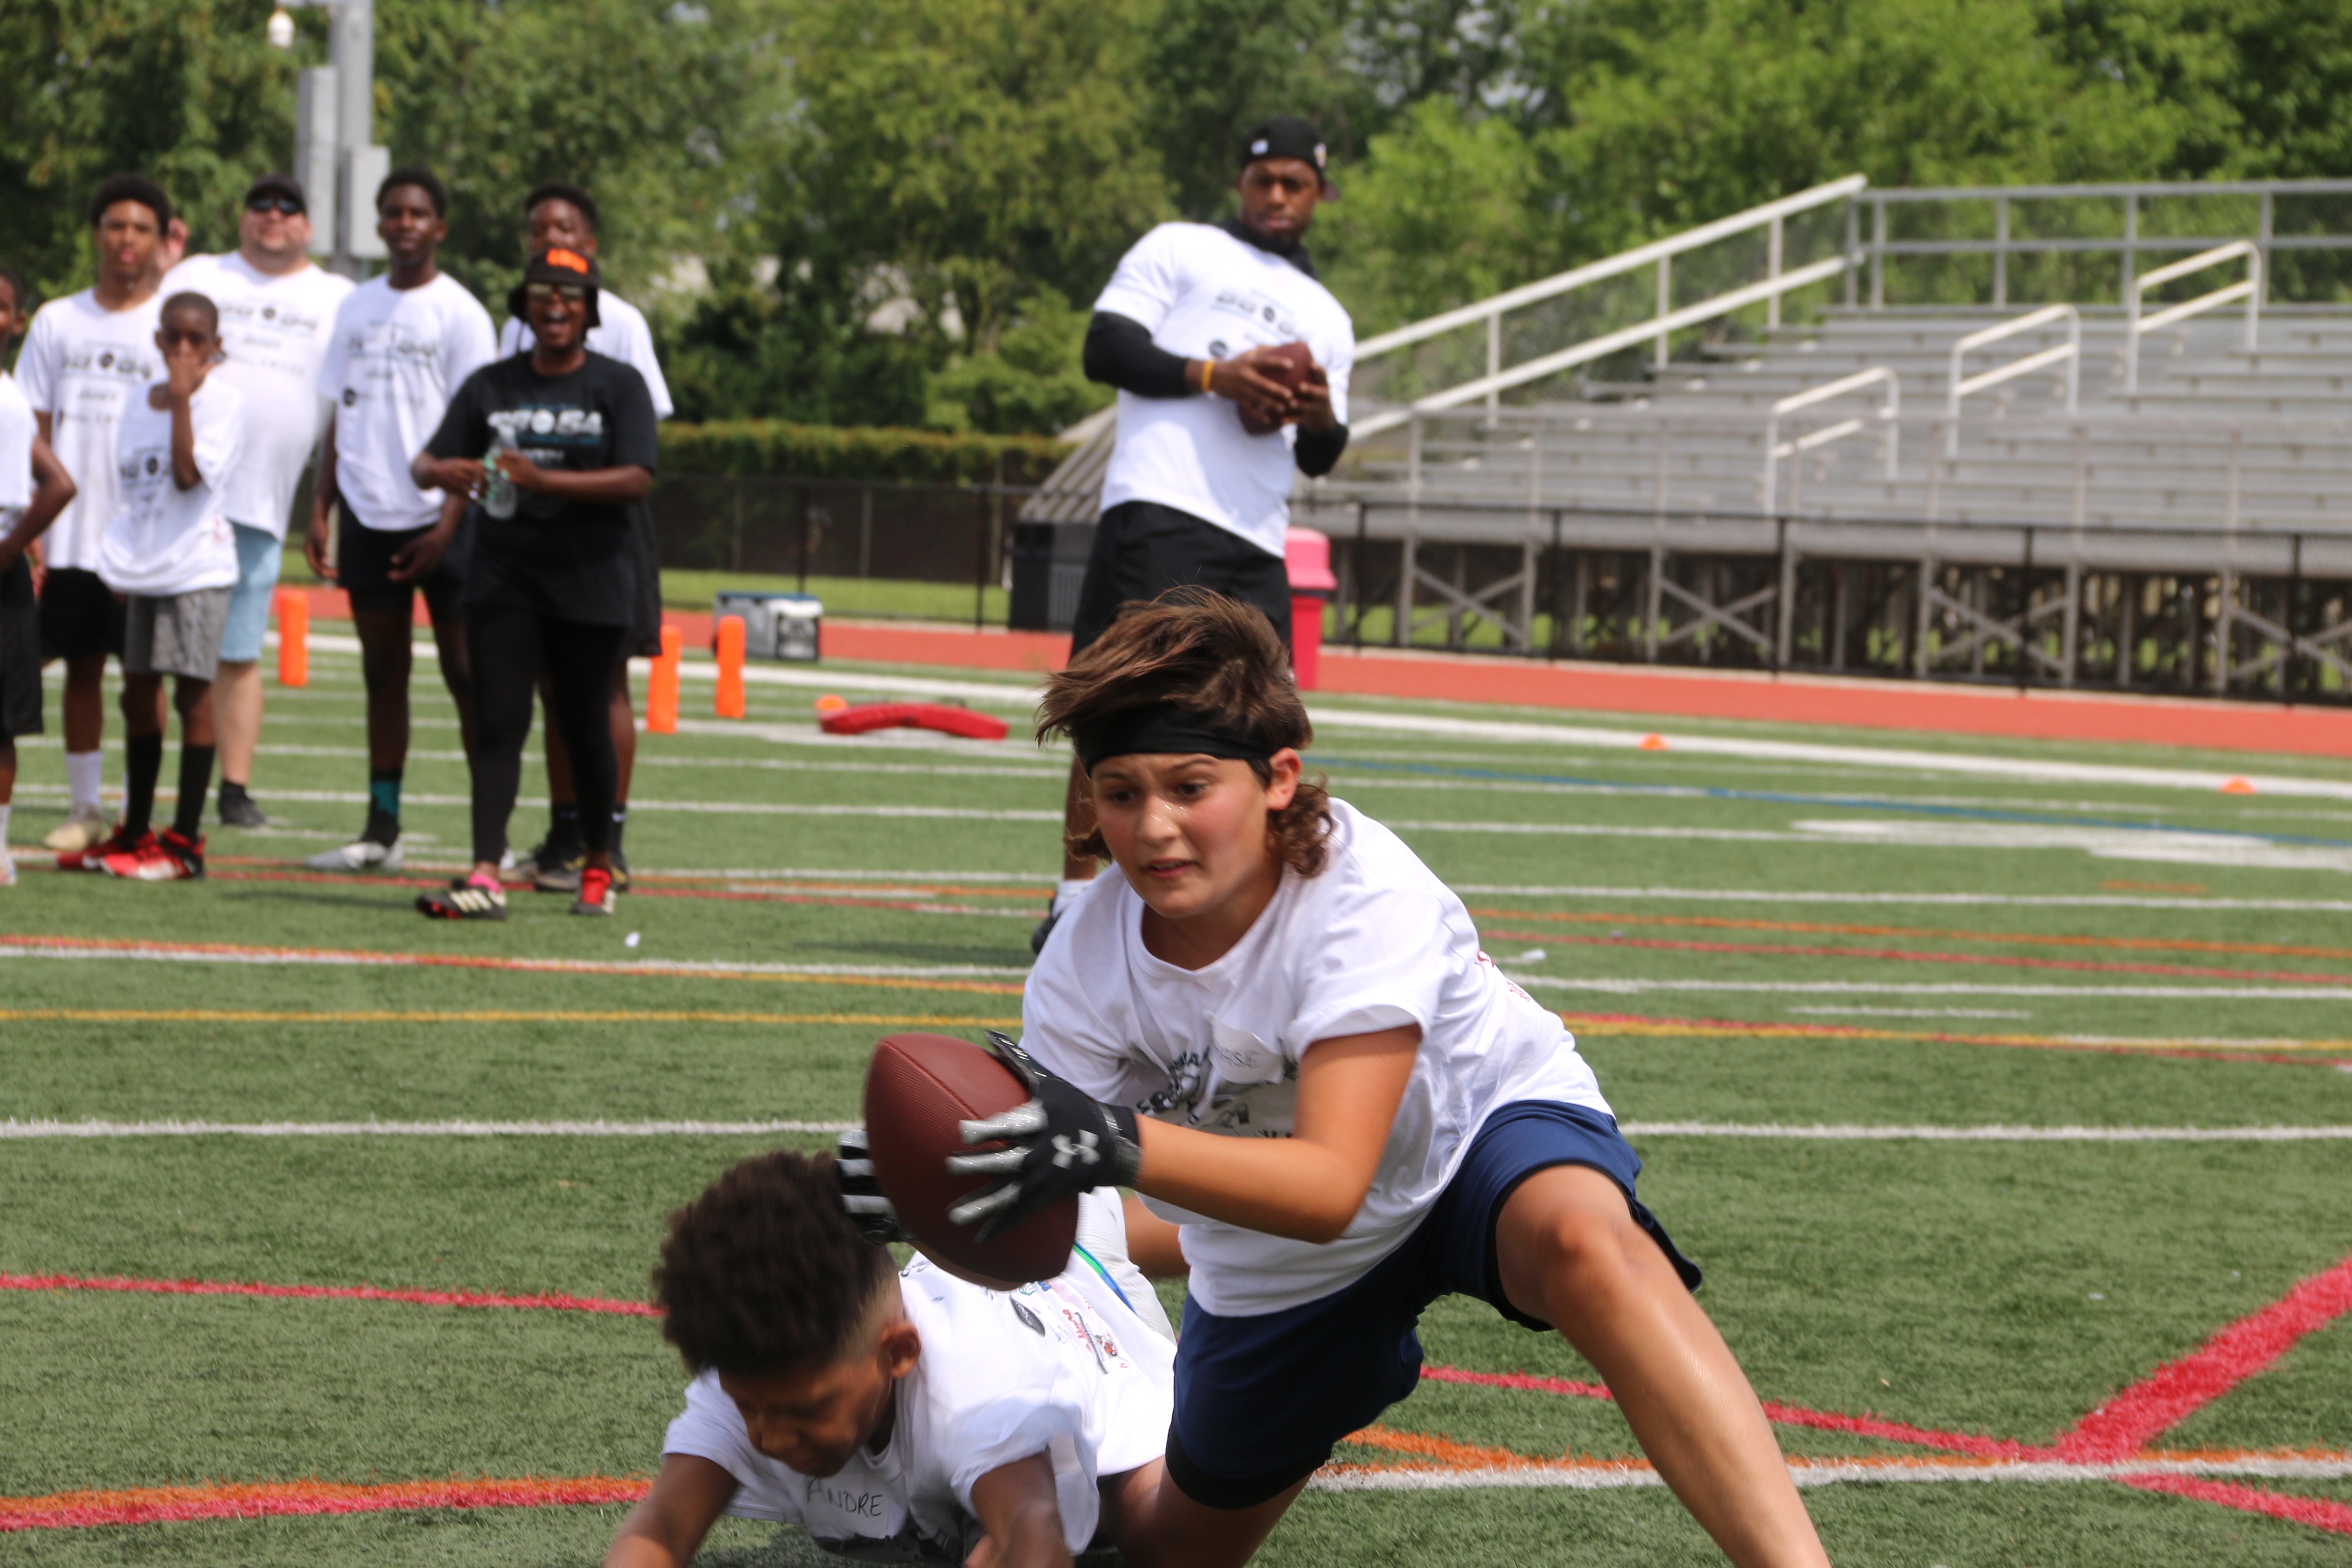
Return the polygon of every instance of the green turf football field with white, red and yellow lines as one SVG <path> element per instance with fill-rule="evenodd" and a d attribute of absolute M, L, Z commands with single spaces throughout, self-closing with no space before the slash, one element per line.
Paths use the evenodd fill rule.
<path fill-rule="evenodd" d="M 1049 889 L 1058 755 L 809 722 L 826 689 L 1011 717 L 1025 679 L 762 675 L 793 679 L 753 682 L 748 722 L 694 717 L 687 682 L 682 733 L 647 736 L 616 922 L 407 910 L 466 839 L 428 679 L 409 872 L 303 872 L 365 790 L 332 646 L 270 693 L 273 827 L 216 832 L 209 882 L 21 858 L 0 1420 L 40 1436 L 0 1448 L 9 1561 L 597 1559 L 682 1387 L 628 1309 L 663 1215 L 851 1119 L 875 1034 L 1018 1018 Z M 1639 1128 L 1835 1559 L 2343 1559 L 2340 766 L 1317 715 L 1334 792 L 1454 882 Z M 16 842 L 61 809 L 28 745 Z M 1425 1345 L 1425 1387 L 1261 1561 L 1717 1561 L 1557 1338 L 1439 1305 Z M 710 1549 L 802 1559 L 767 1526 Z"/>

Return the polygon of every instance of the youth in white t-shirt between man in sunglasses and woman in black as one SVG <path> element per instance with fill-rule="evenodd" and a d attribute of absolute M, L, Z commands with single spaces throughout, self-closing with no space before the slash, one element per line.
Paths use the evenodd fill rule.
<path fill-rule="evenodd" d="M 440 270 L 449 193 L 430 169 L 400 167 L 376 186 L 376 233 L 390 270 L 334 313 L 318 390 L 334 402 L 310 498 L 303 559 L 350 595 L 367 682 L 367 825 L 306 865 L 325 872 L 400 870 L 400 778 L 409 759 L 409 623 L 416 590 L 433 618 L 442 684 L 473 757 L 473 686 L 459 585 L 466 576 L 466 496 L 423 489 L 409 461 L 440 425 L 466 376 L 499 353 L 489 310 Z M 336 559 L 327 517 L 341 501 Z"/>

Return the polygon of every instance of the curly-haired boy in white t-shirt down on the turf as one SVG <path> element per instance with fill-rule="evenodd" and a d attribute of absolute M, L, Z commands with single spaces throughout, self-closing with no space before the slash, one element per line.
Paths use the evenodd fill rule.
<path fill-rule="evenodd" d="M 720 1514 L 861 1561 L 1061 1568 L 1117 1542 L 1160 1483 L 1176 1354 L 1124 1253 L 1094 1194 L 1056 1279 L 901 1272 L 830 1159 L 734 1166 L 670 1215 L 654 1291 L 694 1382 L 607 1568 L 677 1568 Z"/>

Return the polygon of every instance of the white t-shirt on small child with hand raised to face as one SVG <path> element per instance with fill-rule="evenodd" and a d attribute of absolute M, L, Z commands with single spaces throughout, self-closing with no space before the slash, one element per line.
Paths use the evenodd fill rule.
<path fill-rule="evenodd" d="M 245 456 L 245 397 L 205 376 L 188 400 L 198 484 L 172 480 L 172 411 L 146 393 L 122 411 L 115 463 L 115 520 L 99 541 L 99 576 L 115 592 L 165 597 L 238 581 L 238 538 L 228 531 L 228 482 Z"/>

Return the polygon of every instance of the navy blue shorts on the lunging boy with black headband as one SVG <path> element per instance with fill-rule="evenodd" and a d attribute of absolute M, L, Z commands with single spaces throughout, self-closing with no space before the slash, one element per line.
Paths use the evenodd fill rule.
<path fill-rule="evenodd" d="M 1395 1253 L 1362 1279 L 1263 1316 L 1216 1316 L 1185 1302 L 1176 1340 L 1176 1420 L 1169 1476 L 1185 1497 L 1244 1509 L 1312 1474 L 1331 1448 L 1369 1427 L 1421 1385 L 1414 1326 L 1439 1295 L 1475 1295 L 1526 1328 L 1550 1331 L 1503 1295 L 1494 1227 L 1536 1171 L 1592 1166 L 1625 1190 L 1635 1222 L 1698 1288 L 1698 1267 L 1632 1194 L 1642 1157 L 1616 1119 L 1583 1105 L 1503 1105 L 1437 1204 Z"/>

